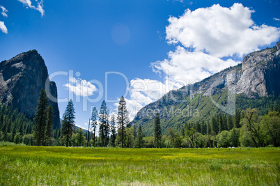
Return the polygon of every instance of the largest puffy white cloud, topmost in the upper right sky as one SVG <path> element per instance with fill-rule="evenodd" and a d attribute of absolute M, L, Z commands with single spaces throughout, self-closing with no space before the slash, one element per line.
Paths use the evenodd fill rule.
<path fill-rule="evenodd" d="M 217 4 L 186 10 L 179 18 L 169 18 L 166 40 L 216 57 L 242 56 L 254 52 L 258 46 L 270 45 L 280 36 L 279 28 L 265 24 L 256 26 L 251 13 L 254 10 L 241 3 L 234 3 L 230 8 Z"/>

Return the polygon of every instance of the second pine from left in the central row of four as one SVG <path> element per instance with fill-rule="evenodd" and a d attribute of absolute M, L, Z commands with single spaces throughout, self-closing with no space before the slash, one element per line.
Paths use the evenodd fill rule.
<path fill-rule="evenodd" d="M 109 134 L 109 128 L 108 128 L 108 110 L 105 101 L 103 101 L 101 104 L 98 117 L 100 121 L 99 136 L 101 138 L 101 146 L 107 146 L 107 135 Z"/>

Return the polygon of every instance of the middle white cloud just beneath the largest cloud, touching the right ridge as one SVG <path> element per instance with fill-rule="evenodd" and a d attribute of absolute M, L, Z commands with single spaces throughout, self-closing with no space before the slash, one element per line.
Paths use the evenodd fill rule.
<path fill-rule="evenodd" d="M 224 61 L 203 52 L 189 52 L 180 46 L 175 52 L 169 52 L 169 59 L 151 63 L 154 72 L 164 72 L 166 78 L 182 85 L 198 82 L 237 64 L 232 59 Z"/>

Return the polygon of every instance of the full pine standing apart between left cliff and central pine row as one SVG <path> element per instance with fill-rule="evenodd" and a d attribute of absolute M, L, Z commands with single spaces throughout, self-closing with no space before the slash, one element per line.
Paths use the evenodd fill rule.
<path fill-rule="evenodd" d="M 66 139 L 66 146 L 69 146 L 72 134 L 75 130 L 75 109 L 73 101 L 70 100 L 63 114 L 61 134 Z"/>

